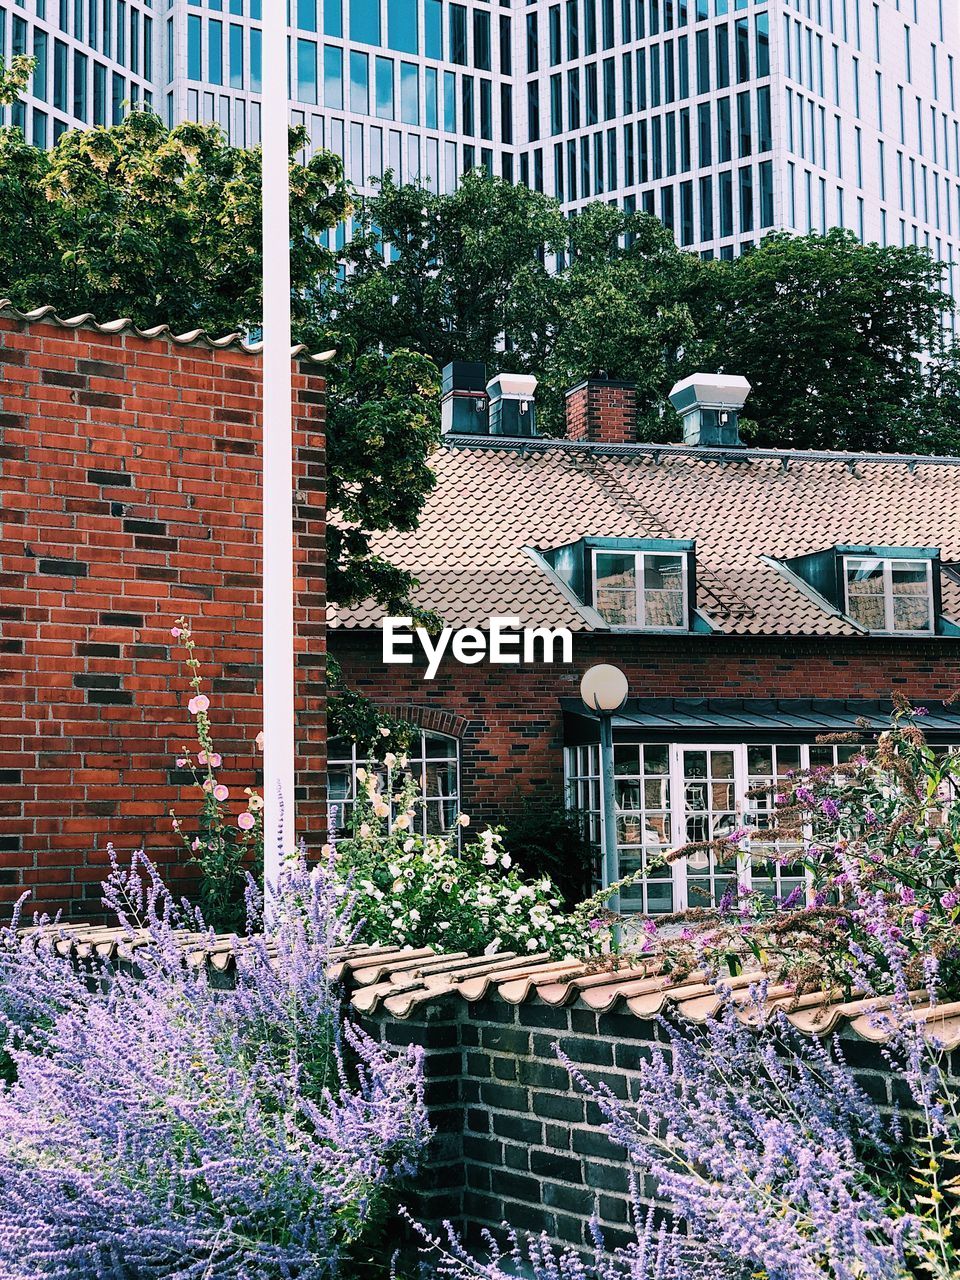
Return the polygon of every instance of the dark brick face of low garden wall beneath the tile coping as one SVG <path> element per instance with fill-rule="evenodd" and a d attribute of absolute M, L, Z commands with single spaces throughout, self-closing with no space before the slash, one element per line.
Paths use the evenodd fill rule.
<path fill-rule="evenodd" d="M 438 997 L 408 1019 L 380 1007 L 366 1027 L 390 1043 L 425 1048 L 436 1137 L 425 1169 L 404 1189 L 421 1220 L 451 1219 L 471 1239 L 506 1221 L 589 1247 L 596 1213 L 611 1247 L 634 1239 L 631 1172 L 639 1175 L 643 1202 L 657 1203 L 655 1188 L 604 1135 L 599 1108 L 571 1083 L 553 1046 L 559 1043 L 588 1080 L 630 1101 L 639 1064 L 666 1039 L 658 1021 L 596 1012 L 581 1000 L 567 1007 L 536 1000 L 512 1005 L 492 993 L 474 1004 L 458 995 Z M 840 1039 L 870 1097 L 891 1111 L 893 1103 L 909 1106 L 879 1046 L 846 1027 Z M 960 1076 L 959 1053 L 952 1074 Z"/>

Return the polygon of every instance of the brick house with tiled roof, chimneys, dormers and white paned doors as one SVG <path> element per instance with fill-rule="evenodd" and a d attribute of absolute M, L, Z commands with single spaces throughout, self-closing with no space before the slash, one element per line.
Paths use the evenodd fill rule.
<path fill-rule="evenodd" d="M 614 721 L 625 874 L 745 819 L 763 827 L 772 794 L 750 792 L 854 750 L 815 740 L 864 717 L 882 727 L 895 690 L 928 707 L 933 741 L 960 742 L 943 705 L 960 687 L 960 460 L 745 448 L 742 390 L 722 381 L 681 385 L 685 443 L 655 445 L 631 443 L 628 385 L 575 388 L 568 438 L 548 440 L 529 389 L 511 415 L 484 403 L 481 371 L 448 371 L 436 489 L 419 531 L 378 549 L 448 626 L 567 627 L 572 660 L 448 655 L 428 680 L 416 646 L 413 664 L 384 663 L 376 608 L 332 613 L 348 682 L 421 728 L 428 824 L 458 808 L 509 824 L 532 795 L 566 790 L 596 838 L 599 724 L 579 682 L 599 662 L 630 682 Z M 348 805 L 352 749 L 332 744 L 330 760 L 332 799 Z M 707 858 L 652 868 L 625 906 L 703 904 L 730 874 Z M 787 891 L 803 870 L 776 874 Z"/>

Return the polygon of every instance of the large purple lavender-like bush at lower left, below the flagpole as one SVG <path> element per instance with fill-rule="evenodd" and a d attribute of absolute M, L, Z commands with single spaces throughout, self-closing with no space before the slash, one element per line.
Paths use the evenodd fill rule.
<path fill-rule="evenodd" d="M 41 950 L 19 972 L 28 1016 L 4 1018 L 0 1275 L 352 1275 L 351 1247 L 428 1126 L 420 1051 L 344 1023 L 326 977 L 352 937 L 349 892 L 326 865 L 287 865 L 275 927 L 251 932 L 223 991 L 188 961 L 180 931 L 200 922 L 142 855 L 114 861 L 105 899 L 143 931 L 140 975 L 77 973 L 64 992 Z M 87 991 L 90 977 L 109 982 Z"/>

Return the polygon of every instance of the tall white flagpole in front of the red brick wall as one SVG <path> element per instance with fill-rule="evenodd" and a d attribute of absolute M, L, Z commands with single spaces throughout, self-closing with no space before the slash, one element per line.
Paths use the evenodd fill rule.
<path fill-rule="evenodd" d="M 264 879 L 296 845 L 287 0 L 264 4 Z M 280 817 L 283 809 L 283 818 Z M 268 899 L 269 910 L 269 899 Z"/>

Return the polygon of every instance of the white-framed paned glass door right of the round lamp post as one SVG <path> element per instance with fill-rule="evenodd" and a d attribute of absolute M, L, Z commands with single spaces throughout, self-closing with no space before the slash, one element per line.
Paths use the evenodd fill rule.
<path fill-rule="evenodd" d="M 673 748 L 675 846 L 723 840 L 741 824 L 746 762 L 740 746 Z M 749 878 L 742 854 L 701 849 L 675 864 L 677 897 L 684 906 L 716 906 L 737 879 Z M 684 870 L 686 874 L 684 876 Z"/>

